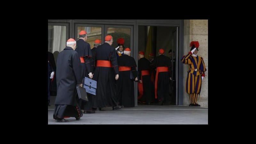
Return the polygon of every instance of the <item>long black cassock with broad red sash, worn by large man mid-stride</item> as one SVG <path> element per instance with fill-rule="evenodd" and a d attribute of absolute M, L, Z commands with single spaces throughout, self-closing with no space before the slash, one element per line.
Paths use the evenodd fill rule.
<path fill-rule="evenodd" d="M 112 67 L 97 67 L 97 60 L 110 61 Z M 99 45 L 95 50 L 95 70 L 93 79 L 97 81 L 96 96 L 93 108 L 104 108 L 118 105 L 116 97 L 116 74 L 119 74 L 116 60 L 116 49 L 108 43 Z"/>

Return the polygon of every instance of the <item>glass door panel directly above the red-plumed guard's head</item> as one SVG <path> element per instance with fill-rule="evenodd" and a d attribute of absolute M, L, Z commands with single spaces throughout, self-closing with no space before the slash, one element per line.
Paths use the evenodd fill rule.
<path fill-rule="evenodd" d="M 124 49 L 127 47 L 131 49 L 131 28 L 108 28 L 107 34 L 113 37 L 112 46 L 114 48 L 118 46 L 116 41 L 121 37 L 124 39 Z"/>

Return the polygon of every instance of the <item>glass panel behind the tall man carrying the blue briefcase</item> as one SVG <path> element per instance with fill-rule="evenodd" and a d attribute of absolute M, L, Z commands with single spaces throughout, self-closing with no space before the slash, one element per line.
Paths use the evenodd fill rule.
<path fill-rule="evenodd" d="M 87 43 L 90 44 L 91 49 L 94 46 L 94 41 L 95 39 L 100 39 L 101 40 L 101 27 L 77 27 L 77 40 L 79 39 L 79 32 L 81 30 L 86 31 L 87 33 Z M 101 44 L 104 43 L 101 41 Z"/>

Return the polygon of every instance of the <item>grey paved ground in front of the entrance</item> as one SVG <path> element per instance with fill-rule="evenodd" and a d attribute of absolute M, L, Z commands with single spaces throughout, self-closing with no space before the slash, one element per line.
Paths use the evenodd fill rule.
<path fill-rule="evenodd" d="M 175 105 L 138 105 L 112 110 L 103 108 L 95 114 L 84 114 L 81 120 L 67 118 L 57 123 L 53 119 L 54 105 L 48 106 L 48 124 L 208 124 L 208 108 Z"/>

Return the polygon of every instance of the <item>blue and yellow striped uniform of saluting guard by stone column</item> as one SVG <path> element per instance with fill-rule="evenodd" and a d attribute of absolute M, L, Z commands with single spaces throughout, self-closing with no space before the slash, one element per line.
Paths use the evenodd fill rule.
<path fill-rule="evenodd" d="M 202 85 L 202 76 L 206 71 L 204 60 L 202 57 L 192 56 L 192 52 L 188 52 L 187 55 L 183 56 L 181 62 L 184 64 L 188 64 L 188 76 L 186 80 L 186 92 L 189 94 L 190 104 L 196 103 L 197 95 L 201 92 L 201 85 Z"/>

